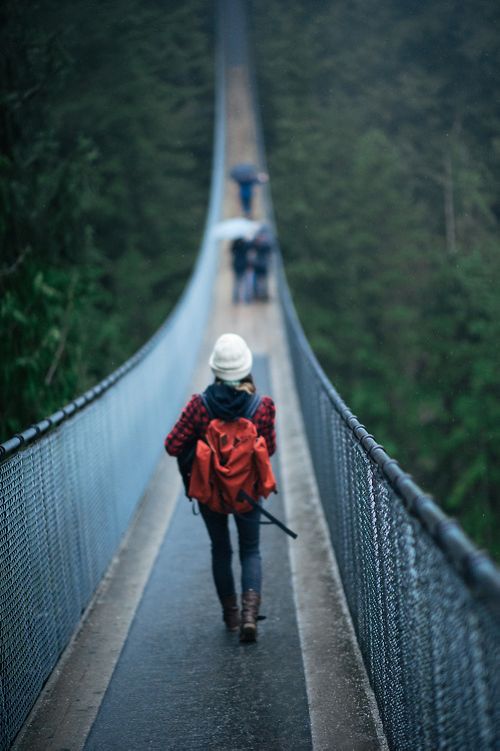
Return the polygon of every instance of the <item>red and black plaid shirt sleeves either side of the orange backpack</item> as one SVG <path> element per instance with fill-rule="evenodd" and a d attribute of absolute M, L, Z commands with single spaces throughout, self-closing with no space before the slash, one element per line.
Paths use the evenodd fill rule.
<path fill-rule="evenodd" d="M 258 435 L 263 436 L 269 456 L 276 451 L 276 431 L 274 417 L 276 408 L 270 396 L 263 396 L 257 407 L 252 422 Z M 198 438 L 204 438 L 210 415 L 199 394 L 194 394 L 182 410 L 182 414 L 165 438 L 165 450 L 170 456 L 179 456 L 183 449 Z"/>

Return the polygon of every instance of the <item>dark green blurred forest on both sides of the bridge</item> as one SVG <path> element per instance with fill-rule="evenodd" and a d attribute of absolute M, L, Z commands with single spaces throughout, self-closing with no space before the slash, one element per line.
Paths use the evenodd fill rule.
<path fill-rule="evenodd" d="M 500 7 L 250 3 L 301 321 L 377 440 L 500 558 Z M 0 435 L 121 364 L 199 245 L 211 3 L 8 2 Z"/>

